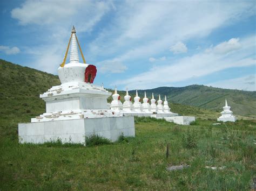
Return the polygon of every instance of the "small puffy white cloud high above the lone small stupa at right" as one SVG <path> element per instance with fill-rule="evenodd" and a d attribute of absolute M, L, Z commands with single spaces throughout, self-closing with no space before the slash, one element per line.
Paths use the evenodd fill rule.
<path fill-rule="evenodd" d="M 215 47 L 210 47 L 206 49 L 206 52 L 214 52 L 217 54 L 226 54 L 241 48 L 239 43 L 239 38 L 232 38 L 228 41 L 218 44 Z"/>

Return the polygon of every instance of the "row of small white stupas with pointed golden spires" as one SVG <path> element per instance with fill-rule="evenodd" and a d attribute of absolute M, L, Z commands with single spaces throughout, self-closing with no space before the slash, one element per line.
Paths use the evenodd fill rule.
<path fill-rule="evenodd" d="M 120 95 L 117 93 L 117 88 L 114 89 L 114 94 L 112 95 L 113 101 L 111 102 L 110 109 L 118 112 L 145 112 L 145 113 L 158 113 L 158 114 L 172 114 L 170 111 L 168 102 L 166 100 L 163 104 L 160 95 L 158 96 L 158 101 L 154 99 L 154 94 L 152 93 L 152 98 L 149 103 L 149 98 L 146 96 L 146 91 L 144 93 L 143 103 L 140 102 L 140 97 L 138 96 L 138 91 L 136 90 L 136 96 L 134 97 L 134 103 L 131 101 L 131 96 L 126 89 L 126 95 L 124 96 L 124 103 L 120 101 Z"/>

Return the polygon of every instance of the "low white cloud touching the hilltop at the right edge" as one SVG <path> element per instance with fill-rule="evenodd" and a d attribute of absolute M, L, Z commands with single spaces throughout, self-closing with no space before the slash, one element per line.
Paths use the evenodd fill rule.
<path fill-rule="evenodd" d="M 256 91 L 255 86 L 256 77 L 255 75 L 238 77 L 229 80 L 221 80 L 207 84 L 207 86 L 226 88 L 226 89 L 239 89 L 245 91 Z"/>

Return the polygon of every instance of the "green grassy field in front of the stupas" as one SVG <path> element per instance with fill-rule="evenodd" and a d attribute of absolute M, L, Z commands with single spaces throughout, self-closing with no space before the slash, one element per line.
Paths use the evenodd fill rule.
<path fill-rule="evenodd" d="M 191 126 L 151 118 L 135 122 L 135 138 L 91 147 L 20 145 L 16 131 L 1 133 L 0 189 L 250 189 L 256 175 L 256 121 L 212 125 L 215 121 L 198 119 Z M 166 171 L 180 164 L 190 167 Z"/>

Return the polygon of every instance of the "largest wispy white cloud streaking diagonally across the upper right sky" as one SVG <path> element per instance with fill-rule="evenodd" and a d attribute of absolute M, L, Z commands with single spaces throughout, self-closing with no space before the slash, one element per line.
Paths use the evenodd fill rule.
<path fill-rule="evenodd" d="M 122 61 L 149 58 L 177 41 L 205 37 L 248 17 L 254 14 L 253 6 L 244 1 L 126 1 L 117 5 L 116 18 L 89 45 L 89 53 L 95 57 L 114 54 L 112 59 Z"/>

